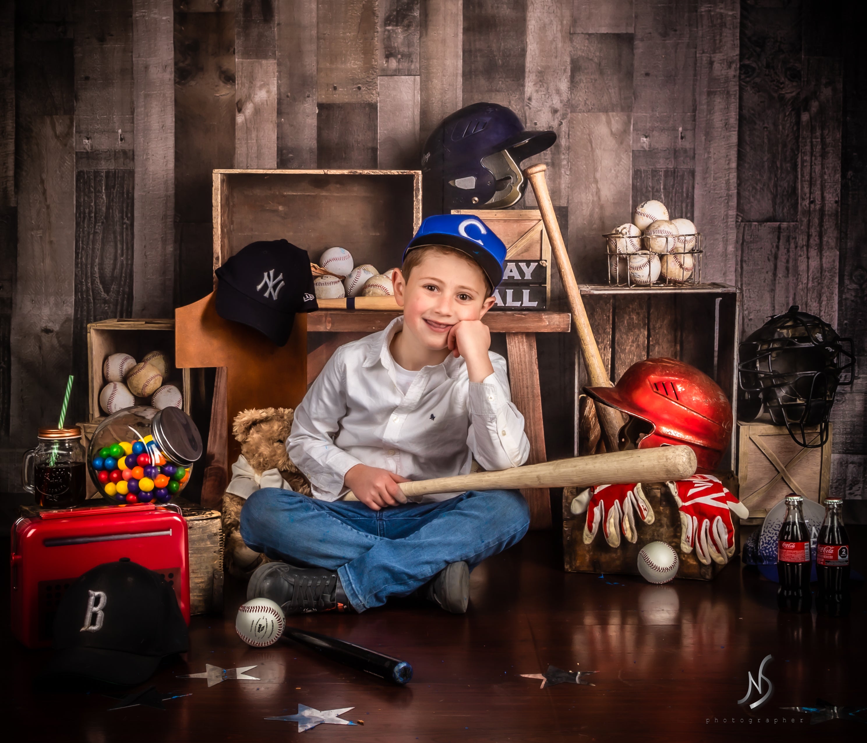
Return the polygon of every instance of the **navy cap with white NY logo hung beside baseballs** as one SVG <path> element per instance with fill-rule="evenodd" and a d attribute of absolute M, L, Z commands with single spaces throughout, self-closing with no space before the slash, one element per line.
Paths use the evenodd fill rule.
<path fill-rule="evenodd" d="M 217 313 L 286 345 L 297 312 L 315 312 L 310 256 L 288 240 L 259 240 L 217 269 Z"/>

